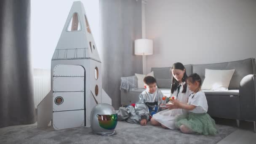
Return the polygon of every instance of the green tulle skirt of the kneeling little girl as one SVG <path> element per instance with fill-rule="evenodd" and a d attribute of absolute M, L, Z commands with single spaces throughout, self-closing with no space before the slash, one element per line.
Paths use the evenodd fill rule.
<path fill-rule="evenodd" d="M 205 136 L 216 135 L 217 133 L 215 121 L 207 113 L 189 112 L 187 115 L 179 115 L 175 120 L 175 126 L 179 128 L 181 125 L 187 126 L 193 132 Z"/>

